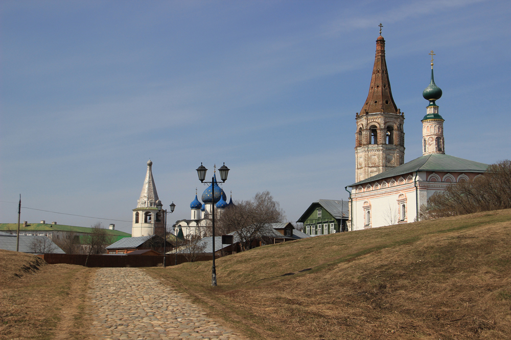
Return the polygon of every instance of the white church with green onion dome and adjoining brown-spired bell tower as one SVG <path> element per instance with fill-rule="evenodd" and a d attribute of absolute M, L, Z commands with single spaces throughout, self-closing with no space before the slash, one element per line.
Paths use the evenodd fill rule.
<path fill-rule="evenodd" d="M 436 191 L 445 190 L 453 182 L 473 179 L 488 167 L 445 154 L 444 118 L 436 104 L 442 90 L 434 82 L 433 59 L 431 83 L 423 92 L 429 101 L 422 119 L 423 155 L 403 163 L 404 114 L 399 109 L 393 111 L 396 105 L 388 83 L 381 31 L 376 42 L 369 95 L 362 112 L 356 115 L 357 181 L 347 186 L 351 188 L 350 230 L 417 221 L 421 206 Z"/>

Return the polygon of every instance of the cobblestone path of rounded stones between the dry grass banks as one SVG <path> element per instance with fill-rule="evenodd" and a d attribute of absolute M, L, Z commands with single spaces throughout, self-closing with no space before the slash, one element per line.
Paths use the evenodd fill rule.
<path fill-rule="evenodd" d="M 246 339 L 142 269 L 101 268 L 89 294 L 91 334 L 98 339 Z"/>

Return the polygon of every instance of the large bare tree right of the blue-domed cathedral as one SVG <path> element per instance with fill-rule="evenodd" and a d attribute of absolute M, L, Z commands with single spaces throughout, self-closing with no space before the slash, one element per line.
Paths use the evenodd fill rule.
<path fill-rule="evenodd" d="M 272 234 L 271 223 L 284 220 L 284 212 L 269 191 L 255 194 L 252 200 L 237 202 L 226 208 L 219 218 L 219 235 L 235 231 L 243 250 L 252 242 L 265 241 Z"/>

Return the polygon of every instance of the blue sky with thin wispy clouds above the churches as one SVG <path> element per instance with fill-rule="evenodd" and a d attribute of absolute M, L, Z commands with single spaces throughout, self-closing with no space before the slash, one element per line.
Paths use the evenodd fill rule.
<path fill-rule="evenodd" d="M 160 199 L 176 204 L 169 221 L 189 218 L 205 189 L 201 162 L 225 162 L 235 200 L 269 190 L 290 221 L 317 199 L 347 199 L 380 22 L 405 162 L 422 154 L 430 50 L 446 152 L 511 158 L 507 1 L 3 1 L 0 11 L 3 223 L 17 220 L 21 194 L 24 207 L 95 217 L 23 208 L 22 221 L 131 232 L 149 159 Z"/>

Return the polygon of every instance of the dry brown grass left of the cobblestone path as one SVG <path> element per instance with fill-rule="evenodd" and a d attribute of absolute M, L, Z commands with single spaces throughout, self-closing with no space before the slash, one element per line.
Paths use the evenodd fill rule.
<path fill-rule="evenodd" d="M 86 339 L 93 269 L 0 250 L 0 339 Z"/>

